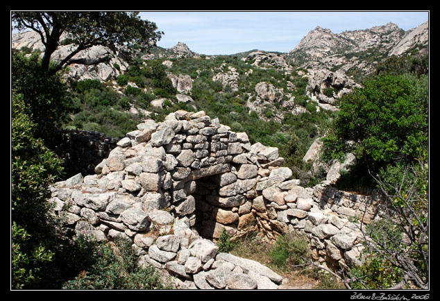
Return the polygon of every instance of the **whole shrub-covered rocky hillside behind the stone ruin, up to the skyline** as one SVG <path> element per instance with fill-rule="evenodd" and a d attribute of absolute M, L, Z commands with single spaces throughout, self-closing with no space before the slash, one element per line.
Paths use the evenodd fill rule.
<path fill-rule="evenodd" d="M 179 42 L 126 62 L 95 46 L 71 59 L 67 78 L 98 83 L 72 86 L 78 109 L 65 128 L 121 138 L 145 117 L 162 121 L 176 110 L 204 110 L 247 132 L 252 143 L 303 158 L 334 117 L 337 99 L 360 87 L 378 62 L 428 46 L 428 22 L 407 32 L 392 23 L 339 34 L 318 26 L 289 53 L 203 55 Z M 12 35 L 12 48 L 31 53 L 42 44 L 36 33 L 25 32 Z M 62 40 L 53 60 L 70 48 Z"/>

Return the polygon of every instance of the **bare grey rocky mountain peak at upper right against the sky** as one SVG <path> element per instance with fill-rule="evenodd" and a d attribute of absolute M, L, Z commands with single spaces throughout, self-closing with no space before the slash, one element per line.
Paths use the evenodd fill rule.
<path fill-rule="evenodd" d="M 393 23 L 339 34 L 318 26 L 289 51 L 287 61 L 305 68 L 343 71 L 359 78 L 389 55 L 427 47 L 428 22 L 407 32 Z"/>

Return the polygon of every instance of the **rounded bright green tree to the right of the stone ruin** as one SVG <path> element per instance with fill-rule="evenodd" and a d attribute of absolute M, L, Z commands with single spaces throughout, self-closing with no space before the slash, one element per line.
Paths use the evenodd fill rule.
<path fill-rule="evenodd" d="M 323 138 L 327 159 L 354 152 L 378 171 L 428 147 L 428 76 L 378 76 L 342 98 L 340 109 Z"/>

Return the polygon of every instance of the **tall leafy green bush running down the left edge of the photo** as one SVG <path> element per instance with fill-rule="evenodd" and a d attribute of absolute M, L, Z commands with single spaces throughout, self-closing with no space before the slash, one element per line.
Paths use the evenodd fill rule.
<path fill-rule="evenodd" d="M 61 160 L 35 139 L 35 123 L 22 95 L 12 93 L 11 123 L 11 276 L 13 289 L 38 287 L 51 264 L 48 237 L 49 184 L 62 174 Z"/>

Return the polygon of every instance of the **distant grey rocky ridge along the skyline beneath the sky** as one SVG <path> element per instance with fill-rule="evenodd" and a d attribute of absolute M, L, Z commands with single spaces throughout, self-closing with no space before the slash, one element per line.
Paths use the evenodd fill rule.
<path fill-rule="evenodd" d="M 416 28 L 404 31 L 396 24 L 388 23 L 384 26 L 374 26 L 364 30 L 343 31 L 335 34 L 328 28 L 316 26 L 303 37 L 303 39 L 289 53 L 271 53 L 268 51 L 252 51 L 248 53 L 247 60 L 254 60 L 253 64 L 260 67 L 282 67 L 289 69 L 291 65 L 298 67 L 327 67 L 327 69 L 340 69 L 348 71 L 353 66 L 358 65 L 364 71 L 371 71 L 375 61 L 369 63 L 362 59 L 359 53 L 376 52 L 378 58 L 385 58 L 390 55 L 401 55 L 412 49 L 422 49 L 429 46 L 429 23 L 424 22 Z M 67 45 L 60 46 L 59 54 L 68 51 Z M 40 37 L 34 32 L 15 33 L 12 35 L 12 48 L 21 49 L 26 47 L 34 50 L 42 49 Z M 100 53 L 99 55 L 103 55 Z M 235 55 L 243 55 L 237 53 Z M 151 53 L 142 55 L 146 60 L 158 58 L 182 58 L 189 56 L 192 58 L 213 58 L 216 55 L 203 55 L 191 51 L 187 44 L 178 42 L 175 46 L 164 49 L 155 47 Z M 244 58 L 242 58 L 244 59 Z M 76 58 L 78 60 L 78 58 Z M 81 62 L 81 60 L 79 60 Z M 93 60 L 86 61 L 83 65 L 92 65 Z M 360 65 L 360 67 L 359 67 Z"/>

